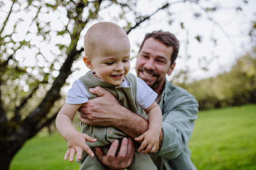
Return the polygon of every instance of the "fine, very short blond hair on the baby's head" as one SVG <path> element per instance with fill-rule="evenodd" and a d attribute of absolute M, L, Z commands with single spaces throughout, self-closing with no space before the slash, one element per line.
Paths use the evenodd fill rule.
<path fill-rule="evenodd" d="M 97 43 L 105 37 L 118 39 L 125 36 L 127 37 L 125 31 L 114 23 L 96 23 L 88 29 L 84 36 L 84 53 L 87 57 L 91 57 L 96 50 Z"/>

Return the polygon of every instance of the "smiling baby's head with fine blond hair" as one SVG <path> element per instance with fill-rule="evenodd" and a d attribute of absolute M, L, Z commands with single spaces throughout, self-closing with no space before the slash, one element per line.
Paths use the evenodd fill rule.
<path fill-rule="evenodd" d="M 95 77 L 120 85 L 130 70 L 130 42 L 125 31 L 114 23 L 100 22 L 84 36 L 83 58 Z"/>

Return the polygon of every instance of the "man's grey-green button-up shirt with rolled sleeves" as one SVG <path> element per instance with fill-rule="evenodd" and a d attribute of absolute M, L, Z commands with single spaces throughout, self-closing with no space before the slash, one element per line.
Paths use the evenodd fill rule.
<path fill-rule="evenodd" d="M 198 102 L 183 88 L 166 81 L 158 105 L 163 113 L 163 142 L 154 154 L 162 157 L 165 165 L 157 166 L 158 170 L 196 170 L 188 142 L 197 119 Z M 141 108 L 138 114 L 142 114 Z M 157 165 L 161 159 L 155 160 Z"/>

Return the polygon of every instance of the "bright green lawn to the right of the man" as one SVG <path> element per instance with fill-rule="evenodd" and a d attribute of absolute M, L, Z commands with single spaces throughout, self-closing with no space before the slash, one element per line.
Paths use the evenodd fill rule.
<path fill-rule="evenodd" d="M 256 170 L 256 105 L 201 111 L 189 147 L 198 170 Z"/>

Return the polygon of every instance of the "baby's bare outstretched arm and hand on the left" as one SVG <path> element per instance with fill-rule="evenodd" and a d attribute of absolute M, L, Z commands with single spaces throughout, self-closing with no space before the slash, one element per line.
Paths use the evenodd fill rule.
<path fill-rule="evenodd" d="M 76 114 L 76 111 L 82 104 L 67 104 L 65 103 L 56 117 L 56 127 L 60 135 L 67 141 L 68 150 L 64 156 L 67 160 L 70 156 L 70 162 L 74 160 L 74 156 L 77 153 L 77 158 L 80 160 L 82 151 L 86 151 L 90 156 L 94 156 L 90 147 L 85 144 L 85 141 L 96 142 L 96 139 L 90 136 L 80 133 L 72 125 L 72 121 Z"/>

